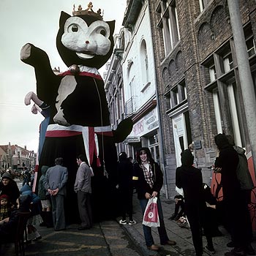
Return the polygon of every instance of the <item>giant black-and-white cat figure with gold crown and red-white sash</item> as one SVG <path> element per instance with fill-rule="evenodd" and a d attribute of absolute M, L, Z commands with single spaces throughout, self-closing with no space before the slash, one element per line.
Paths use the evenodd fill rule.
<path fill-rule="evenodd" d="M 116 211 L 115 143 L 124 140 L 132 130 L 130 119 L 122 121 L 116 130 L 110 127 L 104 82 L 98 69 L 113 52 L 115 21 L 103 21 L 100 10 L 94 12 L 91 7 L 91 2 L 86 10 L 79 6 L 75 11 L 74 7 L 72 16 L 61 12 L 56 45 L 69 67 L 67 72 L 56 75 L 47 53 L 31 43 L 20 52 L 20 59 L 34 67 L 38 98 L 50 106 L 38 176 L 42 165 L 53 166 L 56 157 L 64 158 L 64 166 L 69 170 L 66 208 L 69 222 L 78 212 L 73 192 L 78 154 L 86 155 L 94 172 L 91 181 L 94 217 L 111 217 Z"/>

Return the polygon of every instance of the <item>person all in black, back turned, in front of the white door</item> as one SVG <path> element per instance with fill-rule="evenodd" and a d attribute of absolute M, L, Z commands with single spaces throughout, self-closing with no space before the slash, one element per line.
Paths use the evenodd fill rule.
<path fill-rule="evenodd" d="M 192 240 L 197 256 L 203 255 L 203 238 L 201 228 L 206 235 L 206 250 L 214 253 L 211 231 L 205 215 L 206 201 L 203 192 L 201 170 L 192 166 L 194 157 L 189 149 L 181 153 L 181 167 L 176 169 L 176 186 L 184 191 L 185 214 L 189 221 Z"/>

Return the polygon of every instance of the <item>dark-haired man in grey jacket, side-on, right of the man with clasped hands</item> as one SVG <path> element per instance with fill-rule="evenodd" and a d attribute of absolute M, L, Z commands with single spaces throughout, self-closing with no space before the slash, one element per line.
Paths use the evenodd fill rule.
<path fill-rule="evenodd" d="M 86 164 L 86 157 L 83 154 L 78 156 L 78 172 L 75 178 L 74 190 L 78 194 L 78 211 L 81 226 L 78 230 L 88 230 L 92 227 L 91 213 L 91 168 Z"/>

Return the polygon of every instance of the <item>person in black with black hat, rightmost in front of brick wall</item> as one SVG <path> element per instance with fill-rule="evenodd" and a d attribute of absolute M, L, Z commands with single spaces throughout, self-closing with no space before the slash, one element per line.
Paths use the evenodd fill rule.
<path fill-rule="evenodd" d="M 245 255 L 250 246 L 251 236 L 249 230 L 246 230 L 246 206 L 236 176 L 238 153 L 230 145 L 225 134 L 215 136 L 214 140 L 219 149 L 219 157 L 214 163 L 214 170 L 222 176 L 224 218 L 235 245 L 231 252 L 225 253 L 225 256 Z"/>

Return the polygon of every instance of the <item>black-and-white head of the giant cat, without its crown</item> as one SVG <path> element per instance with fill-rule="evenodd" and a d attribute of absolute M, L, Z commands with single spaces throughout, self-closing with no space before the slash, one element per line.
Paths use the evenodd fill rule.
<path fill-rule="evenodd" d="M 67 66 L 82 64 L 102 67 L 113 51 L 114 21 L 105 22 L 86 15 L 61 12 L 57 48 Z"/>

